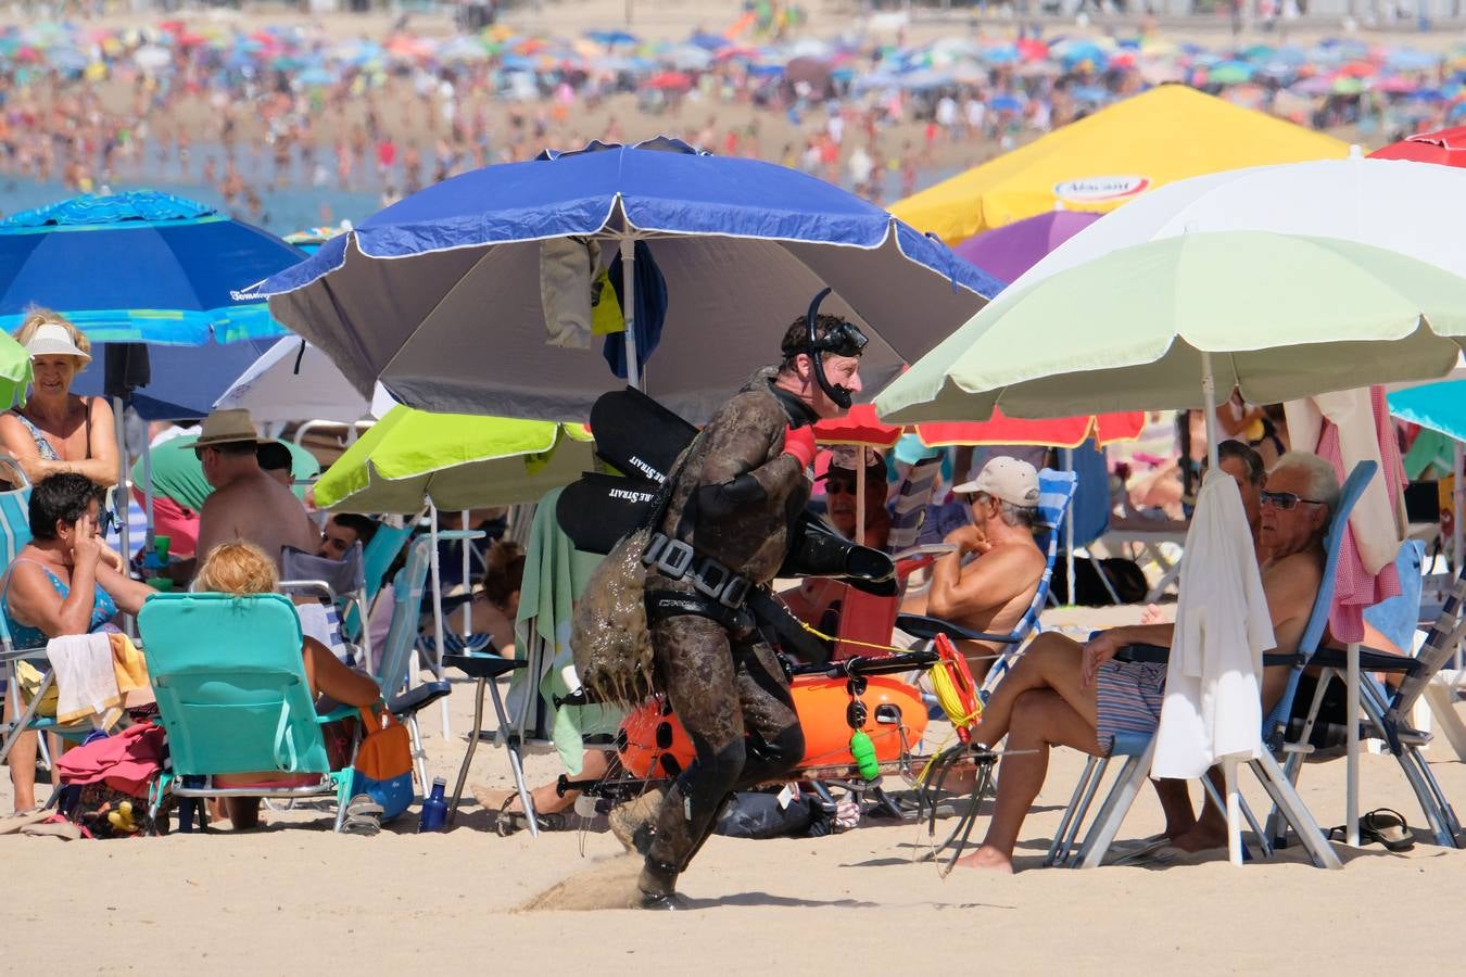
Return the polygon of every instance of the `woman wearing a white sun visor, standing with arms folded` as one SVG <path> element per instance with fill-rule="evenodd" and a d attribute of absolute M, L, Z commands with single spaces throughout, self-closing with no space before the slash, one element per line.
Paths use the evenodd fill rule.
<path fill-rule="evenodd" d="M 111 406 L 106 397 L 72 393 L 72 379 L 91 363 L 91 341 L 47 309 L 32 309 L 15 338 L 29 350 L 35 379 L 25 407 L 0 415 L 0 447 L 32 485 L 59 473 L 85 475 L 103 488 L 116 485 Z"/>

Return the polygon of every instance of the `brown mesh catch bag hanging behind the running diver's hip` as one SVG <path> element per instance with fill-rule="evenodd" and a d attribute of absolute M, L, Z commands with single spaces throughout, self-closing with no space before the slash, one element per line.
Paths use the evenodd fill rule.
<path fill-rule="evenodd" d="M 641 560 L 649 542 L 649 529 L 623 536 L 575 603 L 570 652 L 581 686 L 594 702 L 632 707 L 652 691 L 647 567 Z"/>

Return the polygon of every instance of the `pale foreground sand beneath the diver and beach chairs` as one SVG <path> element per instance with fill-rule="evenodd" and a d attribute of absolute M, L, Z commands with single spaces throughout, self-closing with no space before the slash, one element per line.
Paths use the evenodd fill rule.
<path fill-rule="evenodd" d="M 1073 625 L 1133 614 L 1066 609 L 1050 618 Z M 425 727 L 430 773 L 452 788 L 472 686 L 457 683 L 450 703 L 452 738 L 435 712 Z M 1459 800 L 1466 765 L 1443 743 L 1429 756 Z M 1016 876 L 959 869 L 940 877 L 915 861 L 927 850 L 915 825 L 818 839 L 715 836 L 683 879 L 692 910 L 673 914 L 603 908 L 625 898 L 639 867 L 604 831 L 501 838 L 472 798 L 441 835 L 413 833 L 412 811 L 375 838 L 337 836 L 317 810 L 271 814 L 267 829 L 248 835 L 4 836 L 0 858 L 25 885 L 12 918 L 29 936 L 10 942 L 9 973 L 142 973 L 185 959 L 214 973 L 1454 973 L 1448 930 L 1435 926 L 1466 883 L 1466 852 L 1425 842 L 1400 855 L 1338 845 L 1343 872 L 1314 869 L 1296 845 L 1243 869 L 1224 860 L 1039 869 L 1080 763 L 1078 753 L 1056 751 Z M 559 772 L 542 747 L 528 766 L 535 782 Z M 1422 823 L 1393 759 L 1365 754 L 1362 775 L 1365 810 L 1394 807 Z M 471 781 L 510 784 L 503 751 L 479 748 Z M 6 807 L 7 792 L 4 782 Z M 1255 784 L 1245 792 L 1265 810 Z M 1341 822 L 1343 760 L 1309 765 L 1300 794 L 1322 825 Z M 1120 836 L 1142 838 L 1160 823 L 1146 792 Z M 526 911 L 532 902 L 559 911 Z M 575 911 L 589 908 L 603 911 Z"/>

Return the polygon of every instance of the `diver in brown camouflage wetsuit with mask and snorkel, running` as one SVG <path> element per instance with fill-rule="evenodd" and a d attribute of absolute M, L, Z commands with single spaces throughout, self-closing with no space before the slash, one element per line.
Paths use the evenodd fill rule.
<path fill-rule="evenodd" d="M 803 754 L 789 681 L 745 598 L 778 573 L 809 501 L 811 425 L 844 415 L 861 390 L 865 335 L 815 308 L 789 327 L 780 366 L 708 422 L 644 558 L 655 686 L 696 747 L 664 800 L 648 794 L 613 819 L 647 855 L 635 896 L 647 908 L 676 905 L 677 874 L 730 794 L 778 779 Z"/>

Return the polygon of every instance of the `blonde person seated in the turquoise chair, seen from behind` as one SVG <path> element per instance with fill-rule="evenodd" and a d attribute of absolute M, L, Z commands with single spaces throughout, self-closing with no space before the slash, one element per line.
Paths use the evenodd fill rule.
<path fill-rule="evenodd" d="M 198 570 L 194 589 L 245 596 L 249 593 L 273 593 L 279 583 L 280 577 L 276 571 L 274 560 L 267 557 L 259 546 L 246 542 L 230 542 L 220 543 L 208 551 L 204 565 Z M 317 700 L 328 697 L 333 703 L 343 706 L 371 706 L 381 699 L 381 690 L 377 688 L 377 683 L 342 665 L 336 655 L 331 653 L 331 649 L 314 637 L 305 639 L 301 646 L 301 655 L 305 659 L 306 683 Z M 336 760 L 337 757 L 333 757 L 333 762 Z M 340 757 L 340 760 L 345 762 L 345 757 Z M 299 778 L 283 776 L 279 772 L 236 773 L 214 778 L 214 784 L 218 787 L 289 785 L 296 779 Z M 235 829 L 255 828 L 259 825 L 259 798 L 224 798 L 224 813 Z"/>

